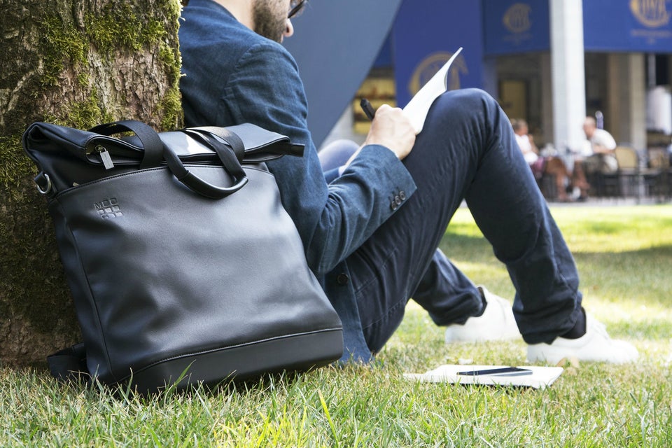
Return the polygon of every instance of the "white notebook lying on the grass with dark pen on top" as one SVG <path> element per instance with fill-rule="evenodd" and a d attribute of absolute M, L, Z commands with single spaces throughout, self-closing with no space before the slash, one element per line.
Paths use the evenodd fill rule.
<path fill-rule="evenodd" d="M 531 370 L 531 374 L 520 376 L 505 375 L 461 375 L 458 372 L 468 372 L 472 370 L 486 370 L 499 367 L 509 367 L 507 365 L 462 365 L 446 364 L 440 365 L 434 370 L 426 373 L 407 373 L 404 377 L 416 381 L 430 383 L 459 383 L 459 384 L 481 384 L 500 386 L 524 386 L 531 388 L 546 388 L 553 384 L 562 374 L 562 367 L 540 367 L 536 365 L 519 365 L 523 369 Z"/>

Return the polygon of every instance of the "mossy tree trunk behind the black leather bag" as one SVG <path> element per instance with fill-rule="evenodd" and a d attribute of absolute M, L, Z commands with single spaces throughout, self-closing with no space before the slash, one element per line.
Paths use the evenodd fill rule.
<path fill-rule="evenodd" d="M 36 169 L 35 121 L 181 125 L 179 0 L 0 0 L 0 365 L 43 363 L 80 332 Z"/>

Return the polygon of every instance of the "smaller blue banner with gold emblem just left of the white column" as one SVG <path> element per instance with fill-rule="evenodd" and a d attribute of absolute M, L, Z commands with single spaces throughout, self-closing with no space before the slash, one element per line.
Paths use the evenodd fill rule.
<path fill-rule="evenodd" d="M 483 10 L 486 55 L 549 50 L 548 0 L 483 0 Z"/>

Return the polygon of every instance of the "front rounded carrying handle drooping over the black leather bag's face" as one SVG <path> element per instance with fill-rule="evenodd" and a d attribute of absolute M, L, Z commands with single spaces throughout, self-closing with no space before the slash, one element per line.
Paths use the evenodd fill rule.
<path fill-rule="evenodd" d="M 222 199 L 243 188 L 248 182 L 248 179 L 234 150 L 228 148 L 225 144 L 216 141 L 216 139 L 210 139 L 204 134 L 202 134 L 201 137 L 207 142 L 208 146 L 217 153 L 219 159 L 222 161 L 225 172 L 228 172 L 232 177 L 234 185 L 230 187 L 219 187 L 200 179 L 200 177 L 190 172 L 184 166 L 182 160 L 180 160 L 179 156 L 172 150 L 172 148 L 166 146 L 163 156 L 173 175 L 190 190 L 211 199 Z M 242 143 L 243 142 L 240 141 L 240 145 L 242 145 Z"/>

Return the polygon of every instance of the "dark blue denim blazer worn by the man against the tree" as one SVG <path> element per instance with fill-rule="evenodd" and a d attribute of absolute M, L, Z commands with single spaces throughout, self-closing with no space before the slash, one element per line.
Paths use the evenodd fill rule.
<path fill-rule="evenodd" d="M 303 158 L 285 156 L 267 165 L 301 236 L 308 265 L 343 322 L 342 360 L 371 360 L 347 257 L 394 213 L 397 207 L 391 202 L 398 192 L 406 197 L 414 193 L 411 175 L 388 148 L 368 145 L 342 176 L 327 183 L 308 130 L 295 60 L 218 3 L 190 0 L 179 41 L 186 125 L 254 123 L 305 145 Z"/>

